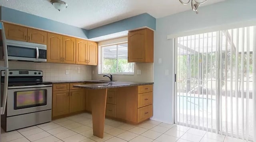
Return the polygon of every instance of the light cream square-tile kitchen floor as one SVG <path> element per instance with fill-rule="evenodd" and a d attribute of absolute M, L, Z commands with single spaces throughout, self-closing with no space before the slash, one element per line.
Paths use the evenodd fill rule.
<path fill-rule="evenodd" d="M 1 142 L 246 142 L 180 125 L 148 120 L 138 126 L 106 118 L 104 138 L 93 136 L 92 115 L 82 113 L 12 132 Z"/>

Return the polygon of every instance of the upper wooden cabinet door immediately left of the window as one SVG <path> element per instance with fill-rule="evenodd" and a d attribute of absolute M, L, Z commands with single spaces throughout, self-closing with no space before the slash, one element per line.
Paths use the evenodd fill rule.
<path fill-rule="evenodd" d="M 87 64 L 94 66 L 98 64 L 98 45 L 96 42 L 88 41 Z"/>

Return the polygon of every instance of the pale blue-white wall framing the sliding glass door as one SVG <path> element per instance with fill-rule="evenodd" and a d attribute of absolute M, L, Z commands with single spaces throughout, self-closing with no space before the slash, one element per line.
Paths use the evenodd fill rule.
<path fill-rule="evenodd" d="M 156 19 L 154 32 L 154 116 L 153 120 L 172 123 L 174 90 L 174 47 L 167 35 L 184 35 L 199 30 L 256 25 L 256 0 L 226 0 L 199 8 L 199 14 L 188 10 Z M 171 7 L 170 7 L 171 8 Z M 162 58 L 162 63 L 158 59 Z M 169 75 L 165 75 L 169 70 Z"/>

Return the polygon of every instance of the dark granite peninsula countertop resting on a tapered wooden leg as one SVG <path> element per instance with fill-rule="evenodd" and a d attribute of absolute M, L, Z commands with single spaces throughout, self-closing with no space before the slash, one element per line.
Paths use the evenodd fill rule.
<path fill-rule="evenodd" d="M 105 89 L 105 88 L 117 88 L 117 87 L 127 87 L 127 86 L 139 86 L 139 85 L 150 85 L 154 82 L 122 82 L 115 81 L 110 83 L 99 83 L 99 84 L 84 84 L 84 85 L 74 85 L 79 88 L 88 89 Z"/>

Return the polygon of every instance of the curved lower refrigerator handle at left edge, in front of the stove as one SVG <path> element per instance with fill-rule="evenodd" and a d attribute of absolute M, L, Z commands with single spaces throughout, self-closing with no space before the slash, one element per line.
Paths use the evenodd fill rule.
<path fill-rule="evenodd" d="M 4 74 L 4 94 L 3 94 L 3 100 L 1 104 L 1 115 L 5 113 L 6 109 L 6 101 L 7 101 L 7 88 L 8 88 L 8 69 L 5 69 Z"/>

